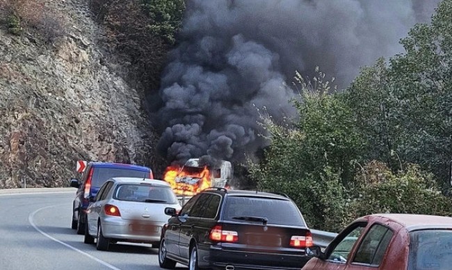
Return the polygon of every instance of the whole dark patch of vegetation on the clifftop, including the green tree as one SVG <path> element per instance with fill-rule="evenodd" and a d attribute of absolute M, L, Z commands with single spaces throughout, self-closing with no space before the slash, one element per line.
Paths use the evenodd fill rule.
<path fill-rule="evenodd" d="M 105 26 L 106 44 L 127 69 L 129 84 L 150 100 L 159 100 L 160 75 L 181 26 L 184 0 L 89 0 L 89 4 L 97 22 Z"/>

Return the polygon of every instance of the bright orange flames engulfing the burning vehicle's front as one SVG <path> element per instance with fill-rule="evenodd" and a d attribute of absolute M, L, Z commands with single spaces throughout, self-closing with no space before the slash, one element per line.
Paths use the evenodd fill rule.
<path fill-rule="evenodd" d="M 204 167 L 200 171 L 187 171 L 177 165 L 166 168 L 163 180 L 170 183 L 177 195 L 193 196 L 211 186 L 209 169 Z"/>

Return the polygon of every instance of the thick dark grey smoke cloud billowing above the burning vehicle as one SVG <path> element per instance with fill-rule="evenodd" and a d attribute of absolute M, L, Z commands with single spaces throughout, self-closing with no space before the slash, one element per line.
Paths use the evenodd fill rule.
<path fill-rule="evenodd" d="M 243 160 L 264 146 L 259 114 L 296 114 L 295 71 L 316 66 L 346 87 L 360 67 L 403 52 L 398 40 L 428 22 L 436 0 L 188 0 L 161 81 L 168 160 Z"/>

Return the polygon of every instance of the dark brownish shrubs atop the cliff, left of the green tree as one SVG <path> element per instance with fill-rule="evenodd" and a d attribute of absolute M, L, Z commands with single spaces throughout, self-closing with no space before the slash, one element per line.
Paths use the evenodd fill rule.
<path fill-rule="evenodd" d="M 127 81 L 158 102 L 160 75 L 170 45 L 147 30 L 152 21 L 143 0 L 90 0 L 90 10 L 106 29 L 106 42 L 127 63 Z M 155 98 L 154 98 L 155 97 Z M 158 106 L 150 106 L 153 108 Z"/>

